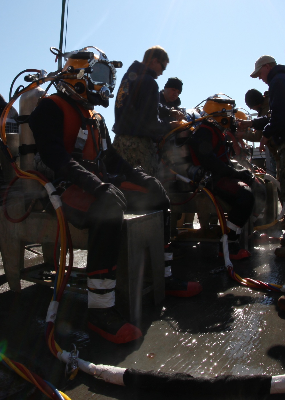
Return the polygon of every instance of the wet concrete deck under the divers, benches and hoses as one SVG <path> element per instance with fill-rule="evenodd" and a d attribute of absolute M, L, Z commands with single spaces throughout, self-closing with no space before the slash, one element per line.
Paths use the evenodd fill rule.
<path fill-rule="evenodd" d="M 275 232 L 278 233 L 282 231 Z M 283 284 L 285 260 L 274 256 L 275 247 L 264 244 L 252 248 L 251 258 L 234 262 L 235 271 L 241 277 Z M 217 256 L 217 243 L 178 242 L 176 248 L 185 251 L 185 255 L 173 262 L 172 272 L 185 280 L 198 280 L 203 286 L 198 296 L 168 297 L 157 309 L 151 302 L 144 304 L 143 338 L 116 345 L 87 330 L 87 296 L 65 292 L 55 334 L 61 348 L 69 351 L 71 343 L 75 343 L 79 357 L 95 364 L 187 372 L 193 376 L 285 374 L 285 313 L 277 308 L 280 294 L 241 287 L 227 272 L 211 274 L 211 270 L 223 265 L 223 259 Z M 36 250 L 40 252 L 40 248 Z M 85 257 L 86 252 L 75 251 L 75 265 L 84 266 Z M 26 251 L 26 266 L 39 262 L 41 255 Z M 44 339 L 52 289 L 24 281 L 22 288 L 21 294 L 15 294 L 7 284 L 0 287 L 2 352 L 52 382 L 72 400 L 192 398 L 190 394 L 137 392 L 83 372 L 67 382 L 65 365 L 53 357 Z M 4 398 L 46 397 L 0 365 L 0 399 Z"/>

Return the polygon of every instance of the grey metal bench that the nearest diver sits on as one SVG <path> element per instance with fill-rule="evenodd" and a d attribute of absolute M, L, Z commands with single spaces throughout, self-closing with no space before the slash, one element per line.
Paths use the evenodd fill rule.
<path fill-rule="evenodd" d="M 19 213 L 22 202 L 14 205 Z M 24 212 L 24 210 L 22 210 Z M 12 208 L 9 213 L 15 216 Z M 21 214 L 21 212 L 20 212 Z M 23 215 L 23 214 L 22 214 Z M 53 265 L 53 248 L 56 237 L 56 218 L 47 212 L 32 212 L 18 224 L 6 220 L 0 207 L 0 248 L 5 271 L 5 281 L 11 290 L 20 292 L 20 280 L 44 283 L 31 277 L 30 270 L 43 270 Z M 69 224 L 73 248 L 87 250 L 88 230 L 78 230 Z M 38 266 L 24 269 L 24 246 L 26 243 L 42 244 L 44 262 Z M 146 257 L 149 254 L 149 257 Z M 145 261 L 149 261 L 146 263 Z M 150 265 L 147 265 L 150 264 Z M 147 268 L 150 267 L 150 268 Z M 151 282 L 144 284 L 144 273 L 150 271 Z M 29 271 L 28 271 L 29 270 Z M 3 278 L 1 284 L 4 283 Z M 46 282 L 53 286 L 52 282 Z M 67 290 L 69 288 L 67 287 Z M 74 290 L 74 288 L 72 288 Z M 124 216 L 121 250 L 117 265 L 116 302 L 119 310 L 127 319 L 138 320 L 141 317 L 142 297 L 153 290 L 154 302 L 164 299 L 164 236 L 163 212 Z M 85 290 L 87 293 L 87 288 Z"/>

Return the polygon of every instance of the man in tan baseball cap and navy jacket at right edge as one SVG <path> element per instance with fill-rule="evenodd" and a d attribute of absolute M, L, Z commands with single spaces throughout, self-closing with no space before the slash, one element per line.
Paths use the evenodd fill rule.
<path fill-rule="evenodd" d="M 269 106 L 271 116 L 254 118 L 252 121 L 241 122 L 240 128 L 252 126 L 255 129 L 262 129 L 263 136 L 260 141 L 260 150 L 264 150 L 269 138 L 272 136 L 274 143 L 278 146 L 280 200 L 285 203 L 285 65 L 276 64 L 272 56 L 261 56 L 251 72 L 252 78 L 259 78 L 268 84 Z M 275 255 L 285 257 L 285 246 L 275 249 Z"/>

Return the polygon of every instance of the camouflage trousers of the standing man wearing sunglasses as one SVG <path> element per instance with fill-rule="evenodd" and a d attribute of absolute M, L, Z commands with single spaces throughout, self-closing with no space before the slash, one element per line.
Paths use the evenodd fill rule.
<path fill-rule="evenodd" d="M 151 138 L 147 136 L 116 135 L 113 147 L 134 168 L 140 165 L 146 174 L 157 176 L 158 159 L 155 144 Z"/>

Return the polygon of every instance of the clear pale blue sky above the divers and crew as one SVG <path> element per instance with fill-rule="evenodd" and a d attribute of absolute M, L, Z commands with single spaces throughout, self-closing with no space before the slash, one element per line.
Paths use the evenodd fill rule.
<path fill-rule="evenodd" d="M 2 2 L 0 93 L 6 100 L 22 70 L 57 69 L 49 47 L 59 46 L 61 5 L 61 0 Z M 284 0 L 69 0 L 66 51 L 96 46 L 109 60 L 122 61 L 116 95 L 131 63 L 159 44 L 170 63 L 157 83 L 162 89 L 169 77 L 182 79 L 182 106 L 192 108 L 222 92 L 246 108 L 248 89 L 267 90 L 262 81 L 249 77 L 257 58 L 269 54 L 285 64 L 284 15 Z M 110 134 L 114 104 L 111 99 L 109 108 L 97 107 Z"/>

